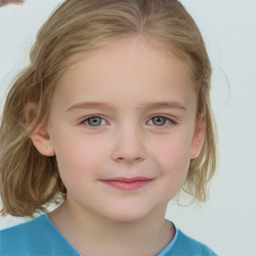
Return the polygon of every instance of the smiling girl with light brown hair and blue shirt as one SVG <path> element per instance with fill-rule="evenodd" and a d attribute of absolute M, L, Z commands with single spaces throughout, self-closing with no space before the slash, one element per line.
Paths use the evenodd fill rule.
<path fill-rule="evenodd" d="M 177 0 L 66 0 L 39 30 L 0 129 L 0 255 L 216 255 L 164 219 L 215 170 L 211 67 Z"/>

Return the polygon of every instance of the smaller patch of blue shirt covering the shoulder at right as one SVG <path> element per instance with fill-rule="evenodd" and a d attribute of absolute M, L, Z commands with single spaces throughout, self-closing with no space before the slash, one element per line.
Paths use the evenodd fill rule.
<path fill-rule="evenodd" d="M 167 255 L 182 256 L 217 256 L 208 246 L 176 230 L 176 240 Z"/>

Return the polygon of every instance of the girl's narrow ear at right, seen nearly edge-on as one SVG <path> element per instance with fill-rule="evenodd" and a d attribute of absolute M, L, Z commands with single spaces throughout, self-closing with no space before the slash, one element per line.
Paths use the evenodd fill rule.
<path fill-rule="evenodd" d="M 205 111 L 203 110 L 199 120 L 196 122 L 190 147 L 190 159 L 196 158 L 202 149 L 205 138 L 205 115 Z"/>

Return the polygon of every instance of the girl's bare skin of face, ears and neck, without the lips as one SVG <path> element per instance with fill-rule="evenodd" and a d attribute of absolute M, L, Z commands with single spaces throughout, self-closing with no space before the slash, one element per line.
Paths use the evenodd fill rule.
<path fill-rule="evenodd" d="M 84 55 L 64 73 L 48 122 L 31 138 L 56 156 L 67 194 L 49 217 L 81 254 L 156 255 L 169 243 L 167 203 L 205 135 L 196 104 L 186 64 L 139 37 Z M 131 190 L 103 182 L 137 176 L 150 182 Z"/>

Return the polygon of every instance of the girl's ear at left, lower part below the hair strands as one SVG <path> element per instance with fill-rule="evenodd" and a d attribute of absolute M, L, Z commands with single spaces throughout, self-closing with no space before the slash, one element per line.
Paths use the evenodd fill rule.
<path fill-rule="evenodd" d="M 35 132 L 30 136 L 36 149 L 45 156 L 55 155 L 54 147 L 51 143 L 47 124 L 38 127 Z"/>

